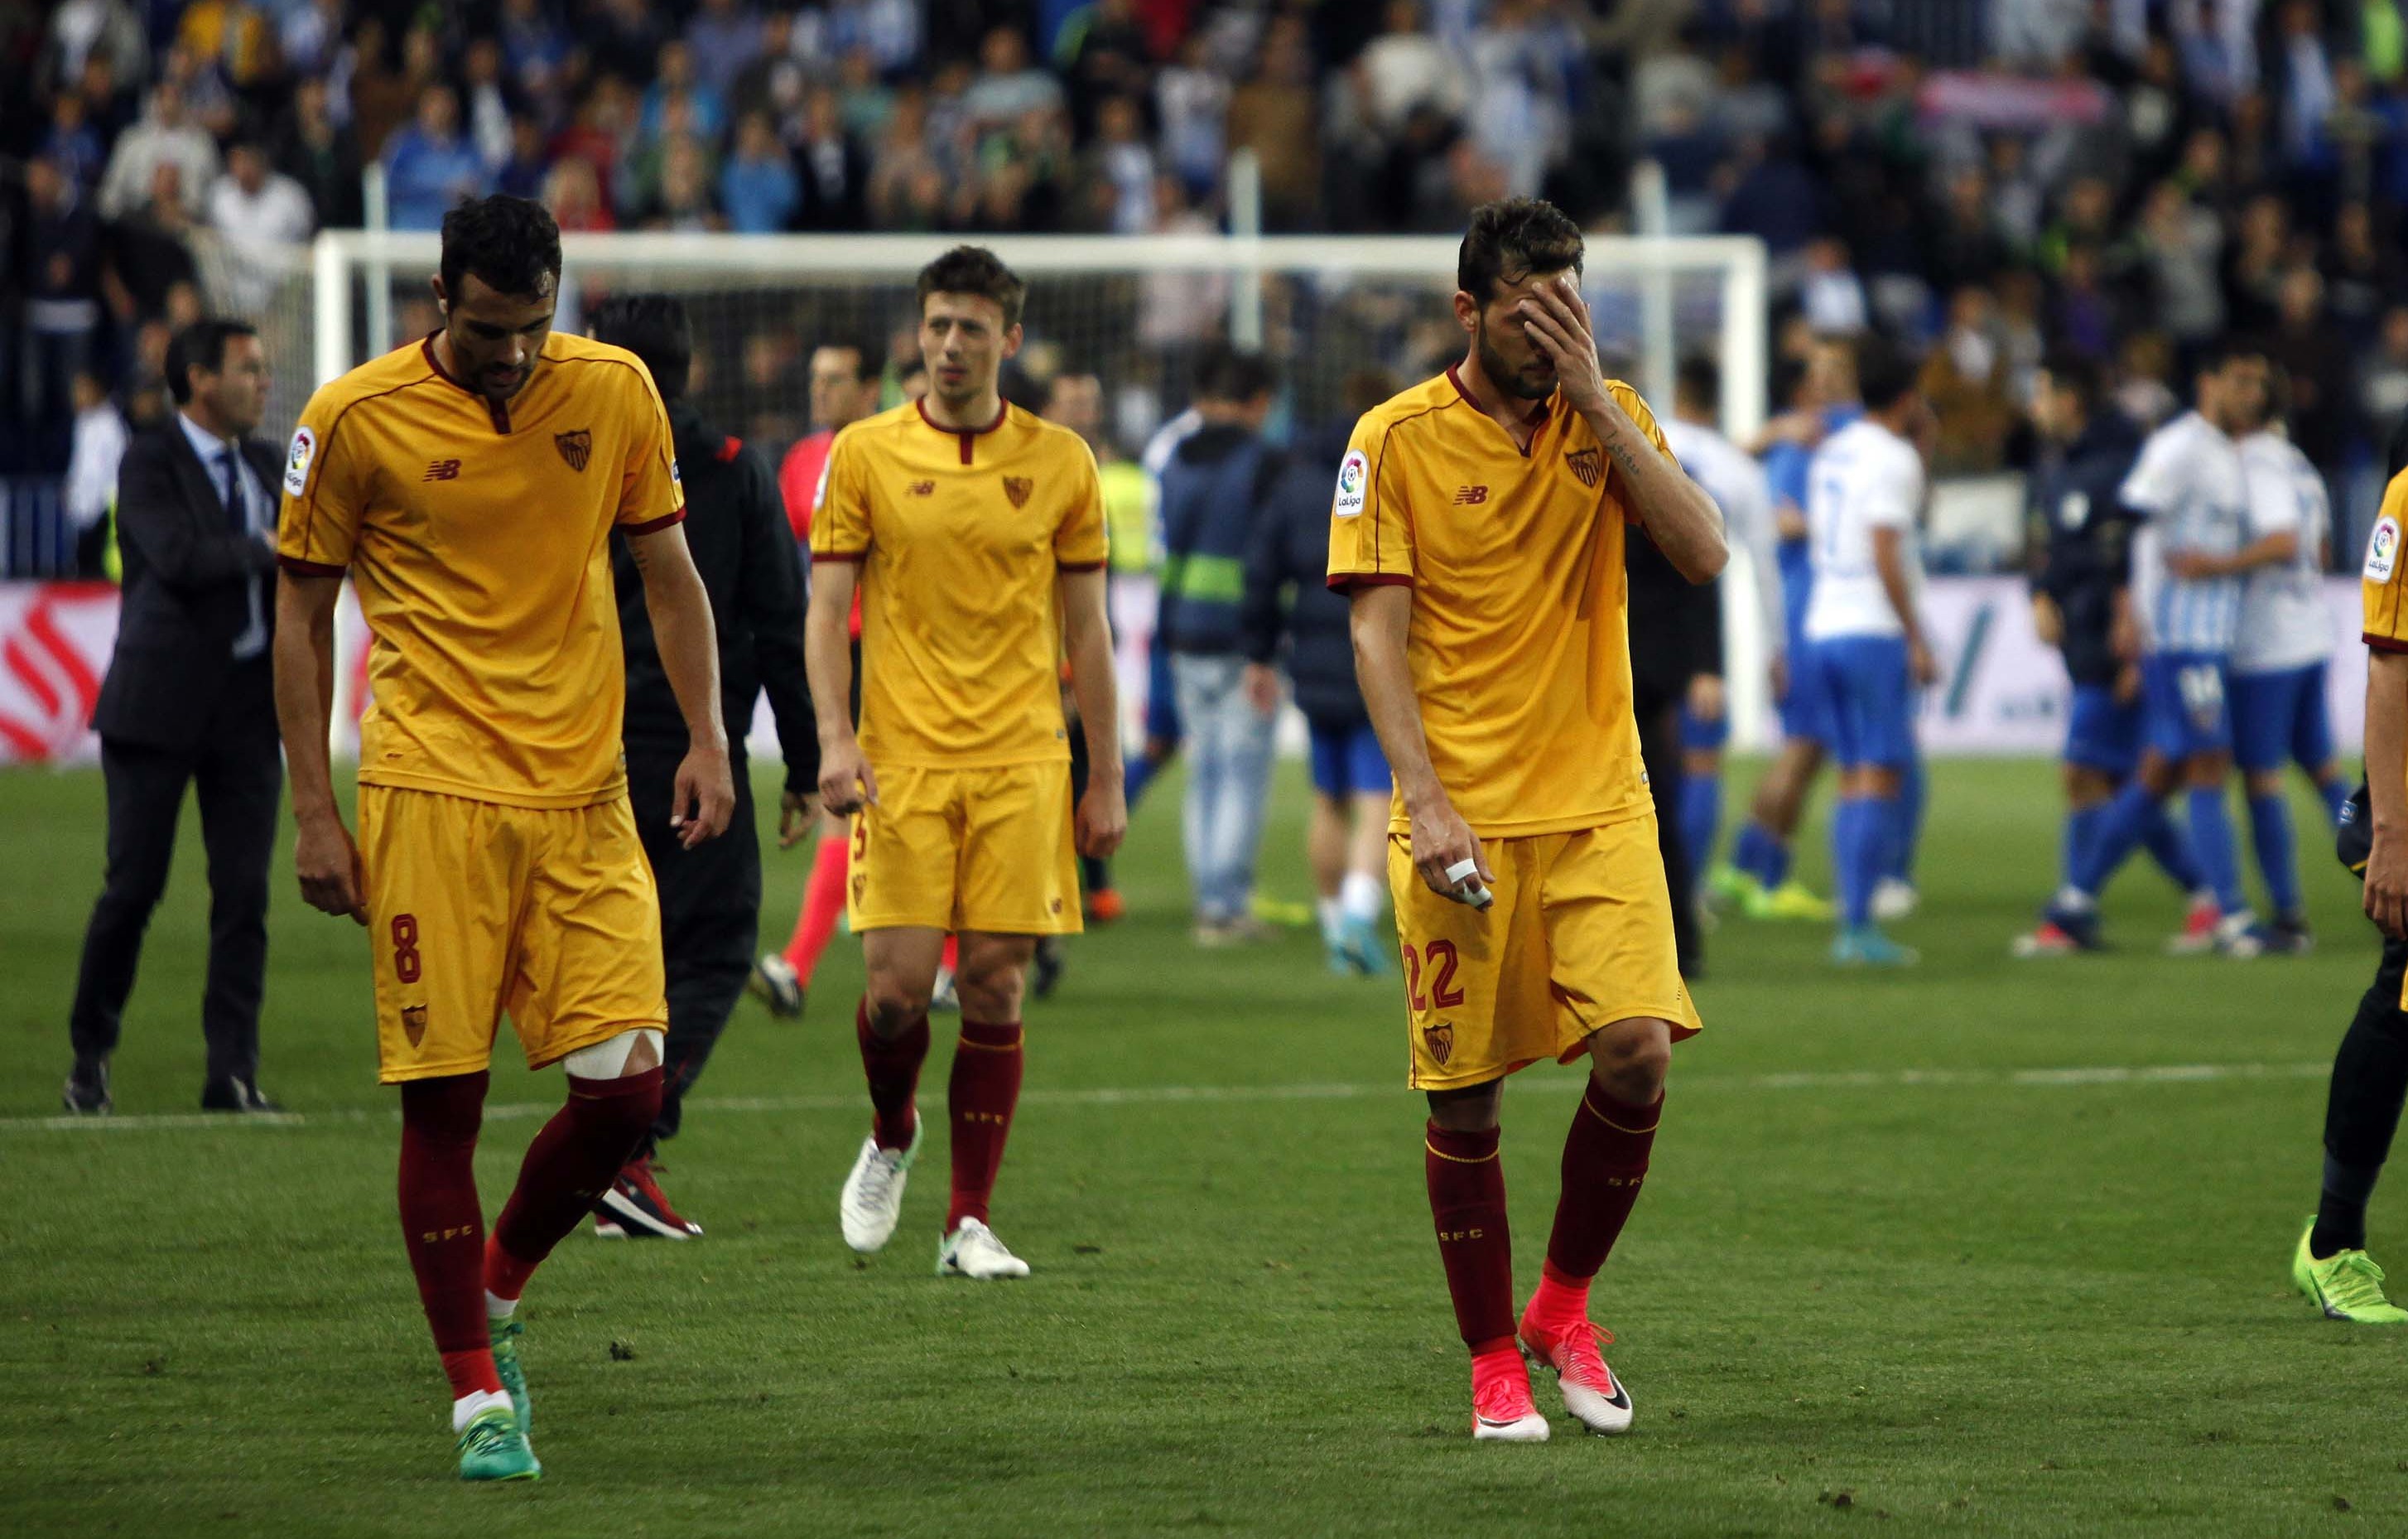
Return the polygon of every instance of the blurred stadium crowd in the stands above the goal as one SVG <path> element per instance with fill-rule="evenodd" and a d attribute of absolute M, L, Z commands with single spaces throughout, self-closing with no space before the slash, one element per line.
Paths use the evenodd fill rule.
<path fill-rule="evenodd" d="M 1628 226 L 1652 159 L 1799 335 L 1929 349 L 1938 474 L 2023 460 L 2049 344 L 2162 417 L 2266 335 L 2353 511 L 2408 405 L 2396 0 L 7 0 L 0 472 L 82 436 L 89 523 L 169 335 L 255 316 L 371 161 L 400 229 L 508 190 L 571 231 L 1144 234 L 1221 222 L 1240 149 L 1269 229 L 1344 234 L 1510 193 Z"/>

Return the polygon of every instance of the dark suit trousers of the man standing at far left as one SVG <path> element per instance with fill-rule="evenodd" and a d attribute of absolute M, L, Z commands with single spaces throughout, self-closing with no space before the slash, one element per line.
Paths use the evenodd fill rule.
<path fill-rule="evenodd" d="M 258 1079 L 267 862 L 284 800 L 284 759 L 265 672 L 267 660 L 260 658 L 226 679 L 226 703 L 190 749 L 101 739 L 108 879 L 84 930 L 75 1009 L 67 1016 L 77 1060 L 101 1060 L 118 1050 L 125 1000 L 142 961 L 142 932 L 166 891 L 176 821 L 190 785 L 200 800 L 200 838 L 209 853 L 209 983 L 200 1000 L 209 1079 Z"/>

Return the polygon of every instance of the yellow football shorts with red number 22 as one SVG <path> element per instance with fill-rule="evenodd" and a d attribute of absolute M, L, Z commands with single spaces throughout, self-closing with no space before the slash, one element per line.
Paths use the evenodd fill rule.
<path fill-rule="evenodd" d="M 1577 833 L 1483 838 L 1495 903 L 1442 898 L 1387 841 L 1404 942 L 1409 1084 L 1445 1091 L 1553 1057 L 1613 1021 L 1657 1016 L 1674 1040 L 1705 1021 L 1681 983 L 1654 814 Z"/>

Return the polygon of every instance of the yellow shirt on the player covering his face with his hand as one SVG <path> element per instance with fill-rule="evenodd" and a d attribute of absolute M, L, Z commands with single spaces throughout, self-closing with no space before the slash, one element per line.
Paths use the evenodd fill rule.
<path fill-rule="evenodd" d="M 1671 458 L 1637 390 L 1606 388 Z M 1430 766 L 1495 838 L 1654 807 L 1630 715 L 1630 511 L 1560 393 L 1531 417 L 1524 453 L 1447 368 L 1363 414 L 1329 508 L 1332 588 L 1413 588 L 1406 658 Z M 1401 797 L 1389 826 L 1409 826 Z"/>

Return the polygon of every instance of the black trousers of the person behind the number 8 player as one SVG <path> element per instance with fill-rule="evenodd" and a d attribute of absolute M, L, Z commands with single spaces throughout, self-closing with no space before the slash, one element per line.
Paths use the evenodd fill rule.
<path fill-rule="evenodd" d="M 677 1137 L 686 1091 L 727 1031 L 751 975 L 761 934 L 761 838 L 754 831 L 751 778 L 737 754 L 737 809 L 727 833 L 691 850 L 669 829 L 669 790 L 684 749 L 628 747 L 626 790 L 636 831 L 660 886 L 660 949 L 669 980 L 669 1040 L 662 1048 L 660 1118 L 641 1154 Z"/>

